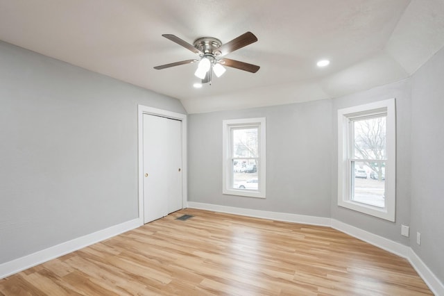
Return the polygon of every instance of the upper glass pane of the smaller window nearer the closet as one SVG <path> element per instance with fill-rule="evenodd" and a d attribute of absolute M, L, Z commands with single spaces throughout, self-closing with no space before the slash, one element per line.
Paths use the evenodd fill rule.
<path fill-rule="evenodd" d="M 258 140 L 257 140 L 257 127 L 244 128 L 244 129 L 232 129 L 232 156 L 255 158 L 258 157 Z"/>

